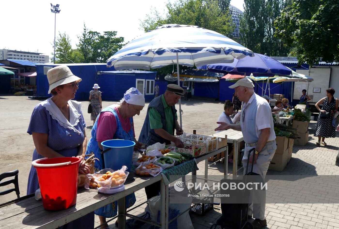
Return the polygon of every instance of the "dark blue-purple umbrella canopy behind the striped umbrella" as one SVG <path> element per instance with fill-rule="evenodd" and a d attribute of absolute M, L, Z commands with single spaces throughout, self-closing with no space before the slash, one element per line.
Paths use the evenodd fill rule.
<path fill-rule="evenodd" d="M 272 77 L 274 75 L 284 76 L 291 75 L 290 69 L 280 64 L 277 60 L 254 53 L 253 57 L 245 56 L 242 59 L 234 59 L 233 63 L 210 64 L 198 67 L 199 69 L 208 70 L 210 72 L 230 73 L 237 75 L 249 76 L 266 76 Z"/>

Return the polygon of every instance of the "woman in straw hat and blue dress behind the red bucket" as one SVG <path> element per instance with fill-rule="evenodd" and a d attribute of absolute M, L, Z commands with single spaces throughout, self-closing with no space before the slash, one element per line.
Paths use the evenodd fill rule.
<path fill-rule="evenodd" d="M 74 101 L 81 78 L 73 75 L 67 66 L 48 70 L 48 93 L 52 97 L 39 103 L 33 110 L 27 133 L 33 136 L 35 149 L 32 161 L 39 158 L 84 158 L 87 138 L 81 103 Z M 81 161 L 79 173 L 89 173 L 89 166 Z M 28 176 L 27 195 L 39 189 L 36 169 Z M 94 213 L 89 213 L 61 227 L 94 228 Z"/>

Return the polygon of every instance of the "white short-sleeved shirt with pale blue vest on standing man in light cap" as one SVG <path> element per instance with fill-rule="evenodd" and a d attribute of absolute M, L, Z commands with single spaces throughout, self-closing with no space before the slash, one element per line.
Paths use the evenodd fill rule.
<path fill-rule="evenodd" d="M 276 139 L 271 107 L 256 93 L 253 93 L 250 100 L 243 104 L 240 125 L 245 143 L 258 142 L 261 130 L 265 128 L 271 128 L 267 141 Z"/>

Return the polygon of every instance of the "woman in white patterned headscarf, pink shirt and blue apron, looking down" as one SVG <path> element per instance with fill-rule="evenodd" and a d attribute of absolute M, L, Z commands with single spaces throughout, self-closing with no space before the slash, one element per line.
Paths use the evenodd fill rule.
<path fill-rule="evenodd" d="M 136 145 L 134 150 L 141 148 L 142 143 L 135 139 L 135 131 L 133 125 L 133 116 L 139 115 L 145 106 L 145 98 L 140 91 L 134 87 L 128 89 L 124 93 L 124 97 L 118 104 L 113 104 L 104 108 L 92 128 L 92 138 L 88 141 L 86 154 L 94 153 L 96 158 L 101 158 L 95 162 L 95 169 L 104 169 L 103 157 L 101 156 L 101 142 L 111 139 L 125 139 L 134 141 Z M 131 161 L 132 165 L 132 161 Z M 127 167 L 131 165 L 126 165 Z M 136 198 L 134 194 L 128 195 L 126 198 L 126 208 L 134 205 Z M 118 201 L 99 208 L 95 211 L 99 215 L 101 229 L 108 228 L 106 218 L 112 218 L 117 215 Z M 117 225 L 117 223 L 116 223 Z"/>

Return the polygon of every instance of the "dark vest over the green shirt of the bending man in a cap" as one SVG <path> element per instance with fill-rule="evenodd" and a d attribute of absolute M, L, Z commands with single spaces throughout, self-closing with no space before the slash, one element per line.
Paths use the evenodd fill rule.
<path fill-rule="evenodd" d="M 165 119 L 164 105 L 162 103 L 162 96 L 163 95 L 158 96 L 157 98 L 153 99 L 151 103 L 149 103 L 148 108 L 147 108 L 147 114 L 146 114 L 146 118 L 144 121 L 144 125 L 142 126 L 139 139 L 138 139 L 139 142 L 145 143 L 147 144 L 147 146 L 153 145 L 154 143 L 157 143 L 157 142 L 166 143 L 166 145 L 171 143 L 171 141 L 166 140 L 162 138 L 161 136 L 157 135 L 154 129 L 151 129 L 149 125 L 149 113 L 148 112 L 149 112 L 149 108 L 153 107 L 157 109 L 157 111 L 159 112 L 161 116 L 162 128 L 163 129 L 166 128 L 166 119 Z M 173 114 L 175 114 L 177 112 L 177 110 L 175 109 L 175 106 L 172 106 L 172 109 L 173 109 Z M 174 123 L 173 123 L 173 133 L 174 133 L 176 119 L 174 118 L 173 120 L 174 120 Z M 169 133 L 169 134 L 172 134 L 172 133 Z"/>

